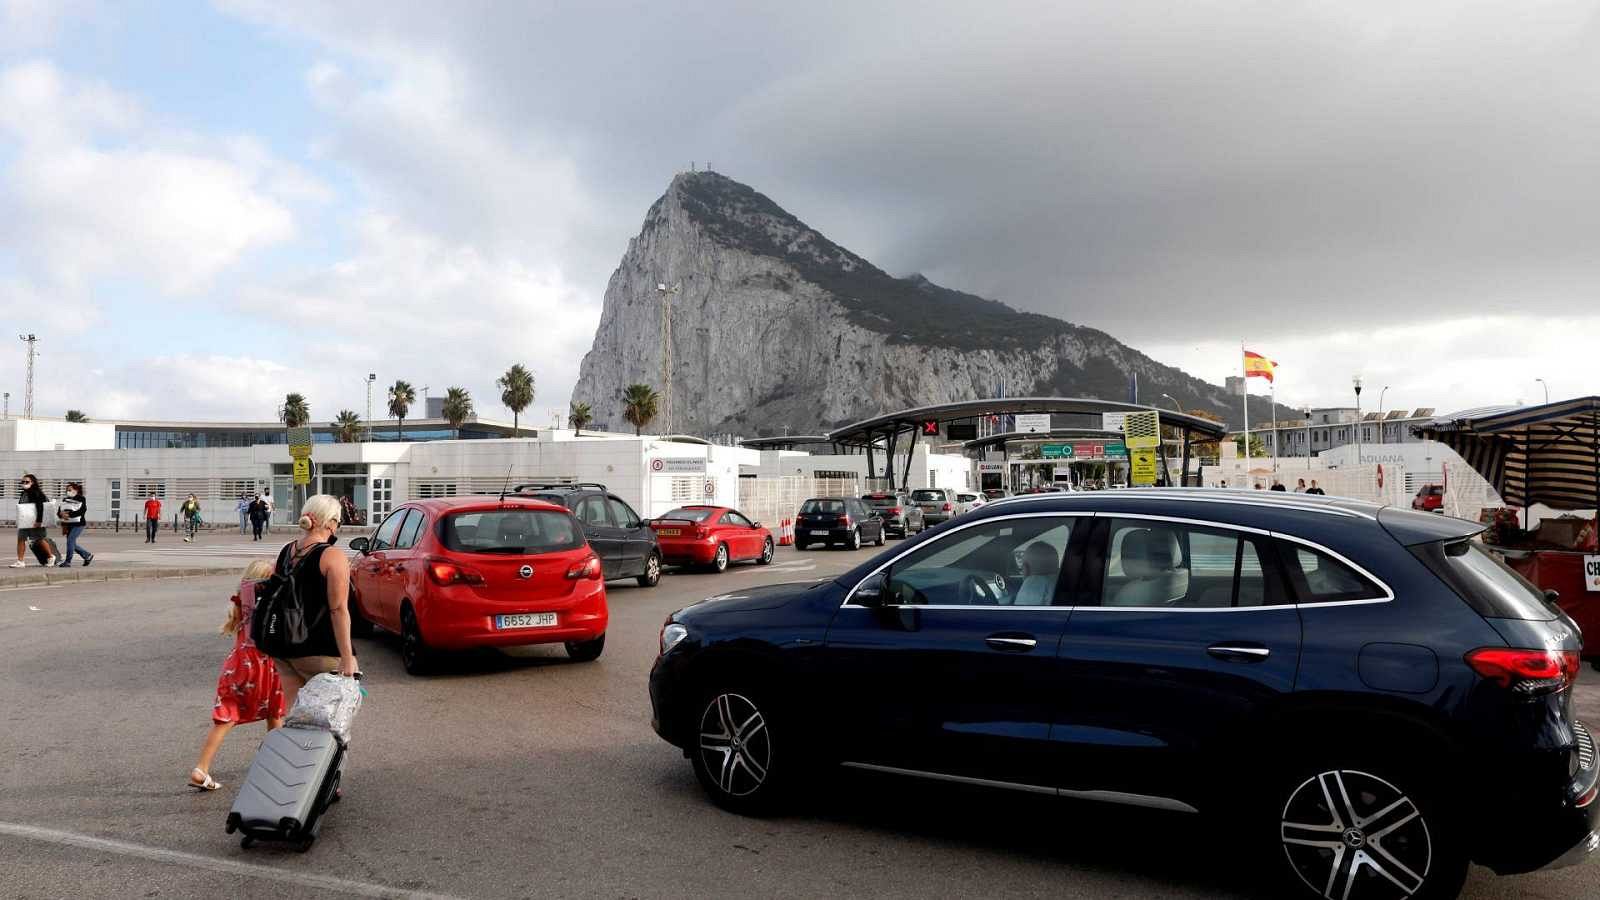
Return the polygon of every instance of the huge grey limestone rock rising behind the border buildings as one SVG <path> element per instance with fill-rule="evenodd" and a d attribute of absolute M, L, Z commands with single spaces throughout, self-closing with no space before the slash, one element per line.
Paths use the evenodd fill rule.
<path fill-rule="evenodd" d="M 574 402 L 626 429 L 622 389 L 662 384 L 658 283 L 672 314 L 672 431 L 816 432 L 872 415 L 976 397 L 1064 396 L 1238 418 L 1238 399 L 1104 331 L 894 279 L 770 199 L 715 173 L 685 173 L 645 216 L 606 285 Z M 1280 408 L 1282 410 L 1282 408 Z M 1280 415 L 1286 415 L 1280 412 Z M 1251 421 L 1267 416 L 1251 402 Z M 661 431 L 656 423 L 651 431 Z"/>

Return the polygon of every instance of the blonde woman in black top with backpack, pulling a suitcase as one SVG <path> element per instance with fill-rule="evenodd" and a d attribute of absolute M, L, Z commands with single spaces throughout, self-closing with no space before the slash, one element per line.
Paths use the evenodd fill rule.
<path fill-rule="evenodd" d="M 310 634 L 290 658 L 275 657 L 283 681 L 286 708 L 312 676 L 338 673 L 346 677 L 360 669 L 350 644 L 350 559 L 326 552 L 338 543 L 339 501 L 318 493 L 301 506 L 301 536 L 278 552 L 275 572 L 294 578 Z"/>

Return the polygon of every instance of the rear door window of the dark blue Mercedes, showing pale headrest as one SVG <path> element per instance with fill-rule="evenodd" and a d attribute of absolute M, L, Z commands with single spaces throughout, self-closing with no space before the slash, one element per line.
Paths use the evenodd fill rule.
<path fill-rule="evenodd" d="M 1227 609 L 1283 604 L 1266 538 L 1146 519 L 1112 519 L 1101 605 Z"/>

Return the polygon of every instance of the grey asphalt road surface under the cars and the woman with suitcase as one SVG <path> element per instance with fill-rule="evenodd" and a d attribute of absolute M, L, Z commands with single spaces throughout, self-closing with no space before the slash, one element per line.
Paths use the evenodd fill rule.
<path fill-rule="evenodd" d="M 1178 814 L 866 775 L 781 818 L 706 802 L 650 730 L 662 618 L 869 552 L 784 548 L 771 569 L 611 585 L 595 663 L 539 649 L 413 679 L 392 639 L 360 641 L 346 802 L 304 855 L 222 833 L 261 725 L 224 745 L 222 791 L 184 788 L 232 578 L 0 591 L 0 897 L 1264 897 L 1240 887 L 1256 862 L 1237 842 Z M 1590 721 L 1595 676 L 1579 685 Z M 1466 895 L 1592 897 L 1597 876 L 1478 870 Z"/>

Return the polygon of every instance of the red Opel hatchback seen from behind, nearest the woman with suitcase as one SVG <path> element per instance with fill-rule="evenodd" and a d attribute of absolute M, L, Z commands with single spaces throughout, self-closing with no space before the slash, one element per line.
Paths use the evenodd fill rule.
<path fill-rule="evenodd" d="M 360 554 L 350 562 L 352 626 L 398 634 L 411 674 L 440 650 L 565 644 L 589 661 L 605 649 L 600 557 L 554 503 L 418 500 L 350 549 Z"/>

